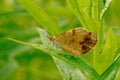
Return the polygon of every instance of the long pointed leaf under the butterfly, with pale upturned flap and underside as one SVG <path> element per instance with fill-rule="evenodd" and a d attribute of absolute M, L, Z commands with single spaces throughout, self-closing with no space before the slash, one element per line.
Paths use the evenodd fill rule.
<path fill-rule="evenodd" d="M 93 80 L 99 79 L 99 75 L 86 61 L 84 61 L 84 59 L 80 57 L 77 58 L 77 57 L 70 56 L 70 55 L 63 55 L 65 53 L 64 51 L 59 51 L 59 50 L 57 51 L 56 49 L 52 48 L 52 46 L 46 46 L 46 44 L 49 44 L 50 42 L 49 39 L 47 38 L 48 34 L 46 34 L 46 32 L 42 29 L 37 28 L 37 30 L 41 34 L 41 40 L 44 45 L 36 46 L 34 44 L 29 44 L 29 43 L 17 41 L 14 39 L 10 39 L 10 40 L 13 40 L 15 42 L 18 42 L 18 43 L 21 43 L 27 46 L 32 46 L 36 49 L 39 49 L 51 55 L 53 59 L 55 60 L 65 80 L 69 80 L 69 79 L 79 80 L 79 77 L 83 77 L 83 79 L 93 79 Z M 56 52 L 61 55 L 57 55 Z"/>

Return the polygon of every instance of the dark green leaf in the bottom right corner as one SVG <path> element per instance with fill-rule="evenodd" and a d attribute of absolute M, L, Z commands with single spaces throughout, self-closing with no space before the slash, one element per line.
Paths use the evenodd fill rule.
<path fill-rule="evenodd" d="M 117 73 L 120 71 L 120 56 L 104 71 L 101 75 L 102 80 L 116 80 Z"/>

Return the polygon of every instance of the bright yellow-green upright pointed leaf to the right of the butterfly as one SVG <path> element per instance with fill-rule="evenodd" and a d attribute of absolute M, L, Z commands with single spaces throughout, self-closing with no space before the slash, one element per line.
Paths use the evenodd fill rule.
<path fill-rule="evenodd" d="M 98 73 L 102 73 L 112 62 L 115 57 L 116 51 L 116 39 L 112 29 L 110 28 L 107 32 L 107 38 L 103 51 L 98 55 L 96 61 L 96 70 Z M 102 67 L 101 67 L 102 66 Z"/>

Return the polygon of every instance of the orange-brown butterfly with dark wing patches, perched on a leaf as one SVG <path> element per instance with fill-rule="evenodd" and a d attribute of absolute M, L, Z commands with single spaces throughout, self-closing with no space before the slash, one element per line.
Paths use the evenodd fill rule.
<path fill-rule="evenodd" d="M 95 46 L 97 34 L 78 27 L 59 34 L 51 40 L 63 50 L 75 56 L 80 56 L 89 52 Z"/>

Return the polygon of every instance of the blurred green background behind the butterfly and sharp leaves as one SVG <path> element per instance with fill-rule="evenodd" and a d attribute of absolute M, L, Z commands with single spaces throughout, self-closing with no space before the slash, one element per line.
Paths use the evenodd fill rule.
<path fill-rule="evenodd" d="M 66 0 L 34 0 L 64 30 L 81 26 Z M 113 0 L 105 14 L 105 29 L 120 35 L 120 0 Z M 16 1 L 0 0 L 0 80 L 62 80 L 52 58 L 36 49 L 7 40 L 40 43 L 35 27 L 42 27 Z"/>

